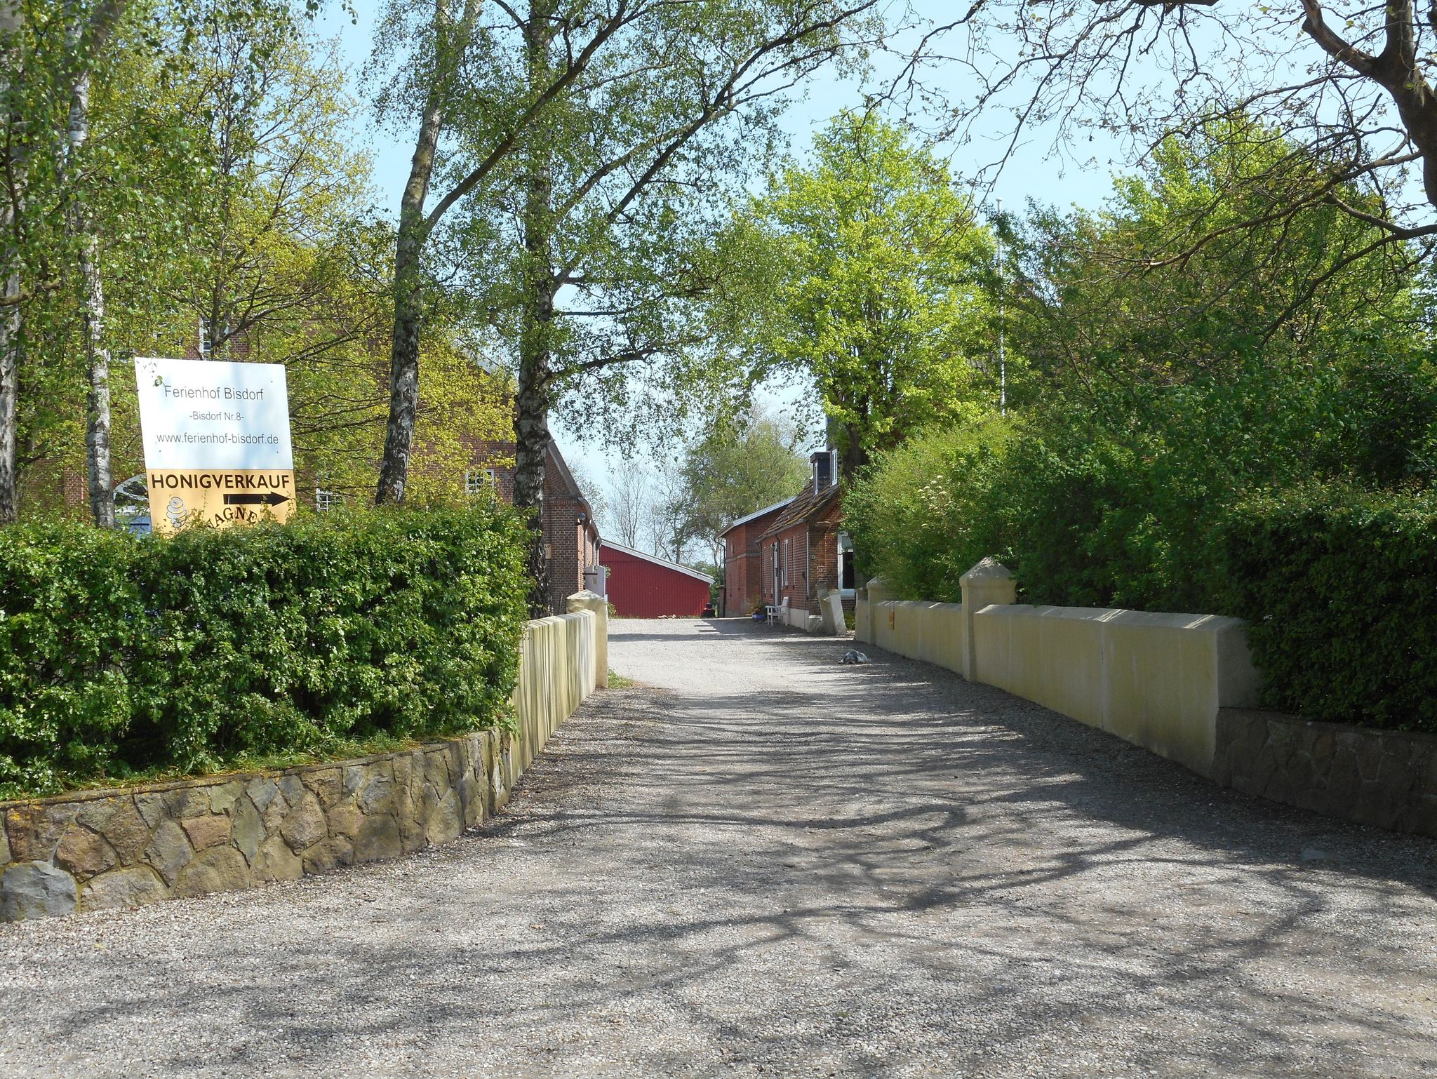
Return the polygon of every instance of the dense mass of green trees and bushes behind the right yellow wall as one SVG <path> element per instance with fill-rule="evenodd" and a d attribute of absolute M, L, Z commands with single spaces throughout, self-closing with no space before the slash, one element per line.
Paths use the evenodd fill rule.
<path fill-rule="evenodd" d="M 1023 407 L 997 441 L 934 432 L 879 458 L 848 507 L 869 569 L 951 598 L 997 555 L 1035 602 L 1223 611 L 1219 537 L 1249 500 L 1431 484 L 1426 274 L 1351 257 L 1380 227 L 1341 207 L 1243 224 L 1246 180 L 1288 155 L 1224 124 L 1165 144 L 1099 214 L 1035 211 L 1012 293 Z M 1168 263 L 1196 221 L 1242 227 Z"/>

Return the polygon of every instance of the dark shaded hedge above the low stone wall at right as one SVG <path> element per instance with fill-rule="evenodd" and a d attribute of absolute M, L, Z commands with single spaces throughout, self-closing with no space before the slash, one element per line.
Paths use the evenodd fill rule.
<path fill-rule="evenodd" d="M 1437 497 L 1303 488 L 1220 529 L 1267 703 L 1437 731 Z"/>

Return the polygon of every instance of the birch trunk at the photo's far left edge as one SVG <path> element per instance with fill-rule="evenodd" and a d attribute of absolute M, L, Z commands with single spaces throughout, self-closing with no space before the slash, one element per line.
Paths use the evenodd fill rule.
<path fill-rule="evenodd" d="M 24 144 L 19 109 L 10 102 L 14 91 L 11 73 L 20 69 L 19 34 L 23 16 L 13 0 L 0 0 L 0 102 L 6 112 L 4 204 L 0 205 L 0 277 L 6 306 L 0 309 L 0 524 L 11 524 L 20 514 L 16 490 L 16 437 L 20 401 L 20 251 L 16 228 L 24 205 Z"/>

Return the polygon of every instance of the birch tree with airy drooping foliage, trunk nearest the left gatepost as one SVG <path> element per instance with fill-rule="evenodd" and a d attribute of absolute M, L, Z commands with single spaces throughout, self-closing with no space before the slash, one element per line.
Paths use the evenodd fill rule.
<path fill-rule="evenodd" d="M 481 96 L 513 99 L 526 128 L 464 214 L 458 250 L 493 267 L 473 282 L 517 381 L 514 501 L 539 520 L 555 408 L 648 425 L 662 409 L 673 428 L 684 388 L 721 382 L 696 302 L 737 269 L 713 249 L 727 194 L 777 152 L 786 95 L 881 23 L 872 0 L 714 0 L 701 14 L 612 0 L 621 23 L 578 68 L 592 4 L 500 7 L 489 40 L 513 57 L 490 66 Z M 537 533 L 532 563 L 542 579 Z"/>

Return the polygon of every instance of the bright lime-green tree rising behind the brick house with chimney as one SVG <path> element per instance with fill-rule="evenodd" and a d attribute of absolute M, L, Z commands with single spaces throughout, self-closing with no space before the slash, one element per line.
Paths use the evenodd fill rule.
<path fill-rule="evenodd" d="M 813 381 L 845 477 L 925 424 L 997 405 L 979 372 L 992 240 L 902 129 L 841 114 L 734 227 L 769 266 L 769 307 L 740 329 L 757 376 Z"/>

